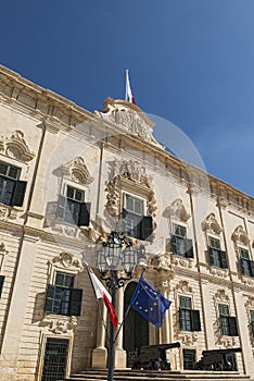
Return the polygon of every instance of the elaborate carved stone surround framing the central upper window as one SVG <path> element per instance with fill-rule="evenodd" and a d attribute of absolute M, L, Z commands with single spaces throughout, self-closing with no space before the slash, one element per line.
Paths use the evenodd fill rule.
<path fill-rule="evenodd" d="M 134 187 L 134 190 L 139 188 L 147 197 L 148 216 L 155 217 L 156 200 L 154 192 L 151 186 L 151 180 L 145 173 L 145 168 L 135 160 L 115 160 L 113 180 L 107 183 L 105 190 L 106 195 L 106 210 L 110 216 L 118 217 L 120 214 L 120 196 L 123 184 L 127 183 Z"/>

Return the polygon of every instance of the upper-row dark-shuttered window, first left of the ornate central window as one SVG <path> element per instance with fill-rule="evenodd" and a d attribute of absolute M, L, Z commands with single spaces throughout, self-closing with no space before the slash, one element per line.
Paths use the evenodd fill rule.
<path fill-rule="evenodd" d="M 58 217 L 77 226 L 88 226 L 90 202 L 85 202 L 85 192 L 72 186 L 66 187 L 66 196 L 59 197 Z"/>

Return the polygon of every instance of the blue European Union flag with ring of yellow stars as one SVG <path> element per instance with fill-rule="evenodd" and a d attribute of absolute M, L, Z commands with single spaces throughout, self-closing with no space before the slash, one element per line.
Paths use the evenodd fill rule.
<path fill-rule="evenodd" d="M 166 310 L 172 302 L 160 294 L 144 278 L 140 276 L 130 300 L 130 306 L 144 319 L 162 327 Z"/>

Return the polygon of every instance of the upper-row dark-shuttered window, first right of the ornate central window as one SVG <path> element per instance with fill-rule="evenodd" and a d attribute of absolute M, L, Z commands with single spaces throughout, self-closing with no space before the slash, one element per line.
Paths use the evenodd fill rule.
<path fill-rule="evenodd" d="M 186 237 L 185 226 L 174 226 L 174 234 L 172 235 L 172 250 L 174 254 L 181 257 L 194 257 L 192 239 Z"/>

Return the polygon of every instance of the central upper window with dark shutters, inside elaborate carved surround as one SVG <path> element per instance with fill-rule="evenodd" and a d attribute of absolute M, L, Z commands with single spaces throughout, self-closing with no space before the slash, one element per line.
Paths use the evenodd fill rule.
<path fill-rule="evenodd" d="M 150 239 L 153 231 L 152 217 L 144 216 L 143 199 L 125 194 L 122 221 L 126 235 L 142 241 Z"/>

